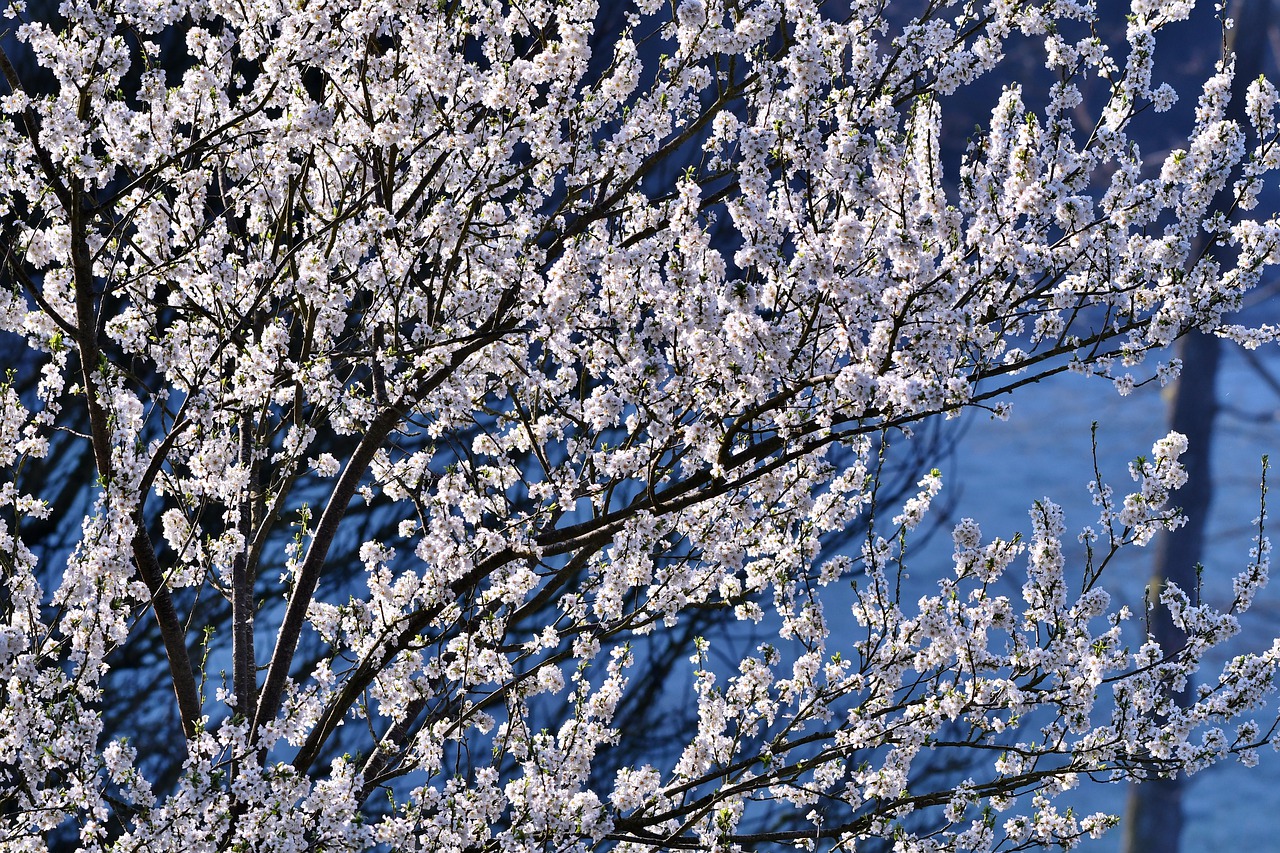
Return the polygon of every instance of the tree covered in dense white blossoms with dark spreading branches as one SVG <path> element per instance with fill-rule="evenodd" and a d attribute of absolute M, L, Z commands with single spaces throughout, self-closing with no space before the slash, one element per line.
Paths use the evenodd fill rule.
<path fill-rule="evenodd" d="M 1224 58 L 1151 163 L 1192 3 L 1135 0 L 1111 47 L 1089 3 L 915 5 L 643 0 L 602 37 L 584 0 L 9 3 L 0 328 L 40 382 L 0 392 L 0 847 L 1018 849 L 1112 822 L 1055 804 L 1080 779 L 1252 761 L 1280 646 L 1171 695 L 1265 581 L 1261 519 L 1226 610 L 1161 594 L 1178 648 L 1101 587 L 1178 523 L 1180 435 L 1092 484 L 1079 565 L 1043 500 L 1025 538 L 961 521 L 923 596 L 940 476 L 886 507 L 881 473 L 1028 382 L 1270 339 L 1224 316 L 1280 260 L 1247 213 L 1276 90 L 1229 120 Z M 1053 85 L 992 92 L 947 161 L 1014 40 Z M 97 485 L 49 585 L 54 438 Z M 687 743 L 620 761 L 648 639 L 708 612 L 777 639 L 692 639 Z M 163 785 L 102 725 L 140 634 Z"/>

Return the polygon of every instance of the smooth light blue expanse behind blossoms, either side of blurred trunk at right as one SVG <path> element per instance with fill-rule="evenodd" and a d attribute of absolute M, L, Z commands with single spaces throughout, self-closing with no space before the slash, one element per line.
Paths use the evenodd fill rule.
<path fill-rule="evenodd" d="M 1263 361 L 1280 374 L 1280 352 L 1263 356 Z M 1258 512 L 1261 457 L 1270 453 L 1280 464 L 1280 398 L 1230 347 L 1224 352 L 1217 398 L 1225 411 L 1216 421 L 1215 493 L 1203 594 L 1210 602 L 1225 603 L 1231 594 L 1231 576 L 1248 561 L 1251 523 Z M 987 538 L 1028 530 L 1028 507 L 1046 496 L 1064 507 L 1069 530 L 1096 521 L 1097 510 L 1085 491 L 1093 479 L 1091 424 L 1094 420 L 1100 424 L 1102 474 L 1117 494 L 1124 494 L 1132 483 L 1126 474 L 1129 460 L 1149 455 L 1152 442 L 1167 430 L 1158 387 L 1120 397 L 1107 382 L 1074 375 L 1021 389 L 1015 394 L 1007 423 L 973 412 L 965 418 L 970 423 L 957 453 L 941 466 L 945 489 L 960 489 L 956 516 L 980 521 Z M 1280 469 L 1272 470 L 1272 475 L 1275 485 L 1280 482 Z M 1280 542 L 1280 511 L 1272 506 L 1271 514 L 1271 537 Z M 932 548 L 945 560 L 950 543 L 945 535 L 938 539 Z M 1152 557 L 1151 548 L 1133 548 L 1108 570 L 1103 585 L 1115 597 L 1115 606 L 1128 603 L 1135 612 L 1142 611 Z M 1069 567 L 1073 558 L 1079 566 L 1083 548 L 1068 553 Z M 1247 615 L 1231 653 L 1263 649 L 1274 637 L 1280 637 L 1280 579 L 1274 580 Z M 1220 663 L 1221 657 L 1215 662 Z M 1267 720 L 1260 722 L 1265 729 Z M 1073 799 L 1078 809 L 1123 815 L 1126 795 L 1126 786 L 1085 781 Z M 1185 813 L 1184 850 L 1280 849 L 1276 835 L 1280 753 L 1263 749 L 1254 768 L 1219 765 L 1193 776 L 1185 794 Z M 1119 848 L 1120 830 L 1080 847 L 1088 853 Z"/>

